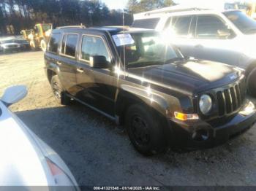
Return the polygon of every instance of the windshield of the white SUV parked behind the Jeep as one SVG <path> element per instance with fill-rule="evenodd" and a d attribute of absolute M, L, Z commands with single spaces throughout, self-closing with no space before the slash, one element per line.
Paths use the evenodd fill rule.
<path fill-rule="evenodd" d="M 224 12 L 224 15 L 244 34 L 256 33 L 256 21 L 244 12 Z"/>

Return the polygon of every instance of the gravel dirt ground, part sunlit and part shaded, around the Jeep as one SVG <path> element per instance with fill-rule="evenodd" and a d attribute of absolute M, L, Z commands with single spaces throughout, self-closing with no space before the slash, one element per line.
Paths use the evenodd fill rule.
<path fill-rule="evenodd" d="M 143 157 L 114 122 L 86 106 L 56 104 L 42 52 L 0 55 L 0 95 L 10 85 L 29 94 L 15 114 L 69 166 L 80 185 L 256 185 L 256 127 L 220 147 Z"/>

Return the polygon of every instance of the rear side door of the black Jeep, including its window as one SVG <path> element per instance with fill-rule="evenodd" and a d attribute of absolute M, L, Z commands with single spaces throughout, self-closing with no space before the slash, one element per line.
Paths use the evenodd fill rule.
<path fill-rule="evenodd" d="M 60 80 L 65 90 L 75 95 L 76 90 L 76 49 L 78 47 L 79 34 L 64 34 L 62 36 L 59 53 Z"/>

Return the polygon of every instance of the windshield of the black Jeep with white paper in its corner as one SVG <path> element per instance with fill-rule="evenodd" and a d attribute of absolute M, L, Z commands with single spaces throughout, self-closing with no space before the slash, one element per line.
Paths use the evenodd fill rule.
<path fill-rule="evenodd" d="M 184 59 L 178 49 L 166 43 L 166 39 L 157 33 L 118 34 L 113 39 L 127 68 L 160 65 Z"/>

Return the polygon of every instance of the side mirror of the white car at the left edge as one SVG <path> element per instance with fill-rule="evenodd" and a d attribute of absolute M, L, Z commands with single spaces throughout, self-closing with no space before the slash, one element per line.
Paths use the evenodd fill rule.
<path fill-rule="evenodd" d="M 1 97 L 1 101 L 3 101 L 6 106 L 10 106 L 25 98 L 27 93 L 28 90 L 26 89 L 25 85 L 15 85 L 8 87 L 4 91 L 4 95 Z"/>

